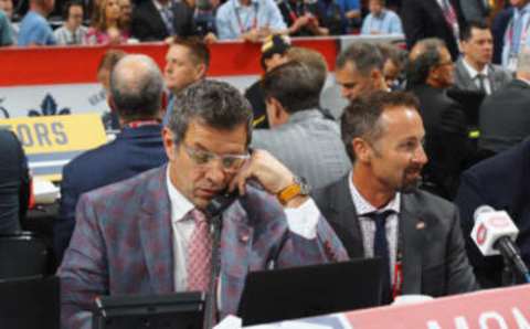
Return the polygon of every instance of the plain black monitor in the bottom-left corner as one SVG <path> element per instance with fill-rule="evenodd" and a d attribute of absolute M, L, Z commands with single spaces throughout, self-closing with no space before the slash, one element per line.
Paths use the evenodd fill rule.
<path fill-rule="evenodd" d="M 59 329 L 60 296 L 56 276 L 0 280 L 0 328 Z"/>

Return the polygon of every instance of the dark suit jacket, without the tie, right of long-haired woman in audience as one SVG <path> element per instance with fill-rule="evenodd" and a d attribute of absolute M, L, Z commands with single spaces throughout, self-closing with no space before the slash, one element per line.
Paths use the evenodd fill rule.
<path fill-rule="evenodd" d="M 194 34 L 193 9 L 182 2 L 174 3 L 173 28 L 179 36 Z M 144 0 L 135 8 L 130 23 L 130 33 L 132 38 L 137 38 L 140 41 L 161 41 L 171 36 L 152 0 Z"/>

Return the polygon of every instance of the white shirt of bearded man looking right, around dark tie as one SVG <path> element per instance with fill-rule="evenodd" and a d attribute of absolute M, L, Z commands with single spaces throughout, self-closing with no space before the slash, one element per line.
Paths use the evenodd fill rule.
<path fill-rule="evenodd" d="M 353 201 L 353 205 L 357 210 L 357 215 L 359 217 L 359 223 L 361 226 L 361 234 L 362 234 L 362 246 L 364 247 L 364 257 L 372 258 L 373 257 L 373 243 L 374 243 L 374 235 L 375 235 L 375 222 L 373 219 L 367 216 L 368 213 L 371 212 L 385 212 L 388 210 L 392 210 L 393 213 L 386 217 L 386 241 L 389 242 L 389 256 L 390 256 L 390 277 L 391 283 L 394 283 L 394 269 L 395 269 L 395 262 L 398 257 L 398 240 L 399 240 L 399 214 L 401 209 L 401 193 L 395 193 L 394 199 L 392 199 L 385 206 L 381 209 L 377 209 L 370 202 L 368 202 L 357 190 L 356 185 L 353 184 L 353 171 L 350 172 L 348 177 L 348 181 L 350 184 L 350 193 Z"/>

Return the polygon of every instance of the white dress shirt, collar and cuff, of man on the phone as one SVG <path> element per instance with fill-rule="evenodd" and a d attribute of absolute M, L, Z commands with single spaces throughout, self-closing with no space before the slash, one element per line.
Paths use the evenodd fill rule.
<path fill-rule="evenodd" d="M 195 229 L 195 222 L 187 219 L 187 214 L 194 209 L 194 205 L 180 193 L 169 177 L 171 164 L 168 164 L 166 183 L 168 187 L 169 201 L 171 206 L 171 224 L 173 232 L 173 283 L 176 291 L 186 291 L 188 287 L 187 255 L 188 244 Z M 320 219 L 320 211 L 315 201 L 309 199 L 299 208 L 285 209 L 287 225 L 289 230 L 305 238 L 311 240 L 317 236 L 317 224 Z M 219 287 L 218 287 L 219 288 Z"/>

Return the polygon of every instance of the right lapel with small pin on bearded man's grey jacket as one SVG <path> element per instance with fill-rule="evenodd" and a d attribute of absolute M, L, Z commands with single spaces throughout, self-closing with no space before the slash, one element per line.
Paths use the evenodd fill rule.
<path fill-rule="evenodd" d="M 422 255 L 425 225 L 414 194 L 402 194 L 400 234 L 403 243 L 403 294 L 422 290 Z"/>

